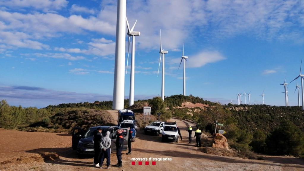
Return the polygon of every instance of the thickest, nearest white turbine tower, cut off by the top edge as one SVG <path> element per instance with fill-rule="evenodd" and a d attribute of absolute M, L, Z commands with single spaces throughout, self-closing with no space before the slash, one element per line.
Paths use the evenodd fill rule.
<path fill-rule="evenodd" d="M 125 91 L 126 0 L 117 1 L 113 110 L 123 109 Z"/>

